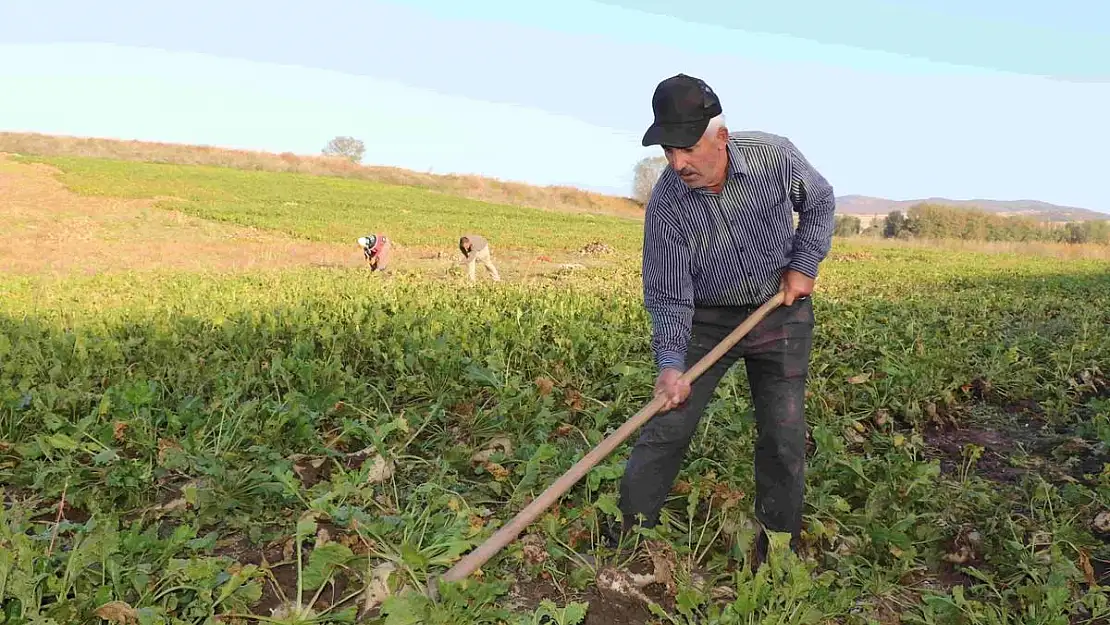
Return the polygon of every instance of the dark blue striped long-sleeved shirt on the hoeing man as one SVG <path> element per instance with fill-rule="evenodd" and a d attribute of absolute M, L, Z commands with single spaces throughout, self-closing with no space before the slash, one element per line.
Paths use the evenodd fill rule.
<path fill-rule="evenodd" d="M 666 168 L 644 218 L 644 304 L 656 366 L 686 370 L 694 306 L 763 304 L 786 269 L 817 278 L 835 209 L 828 181 L 788 139 L 767 132 L 729 134 L 719 194 L 690 189 Z"/>

